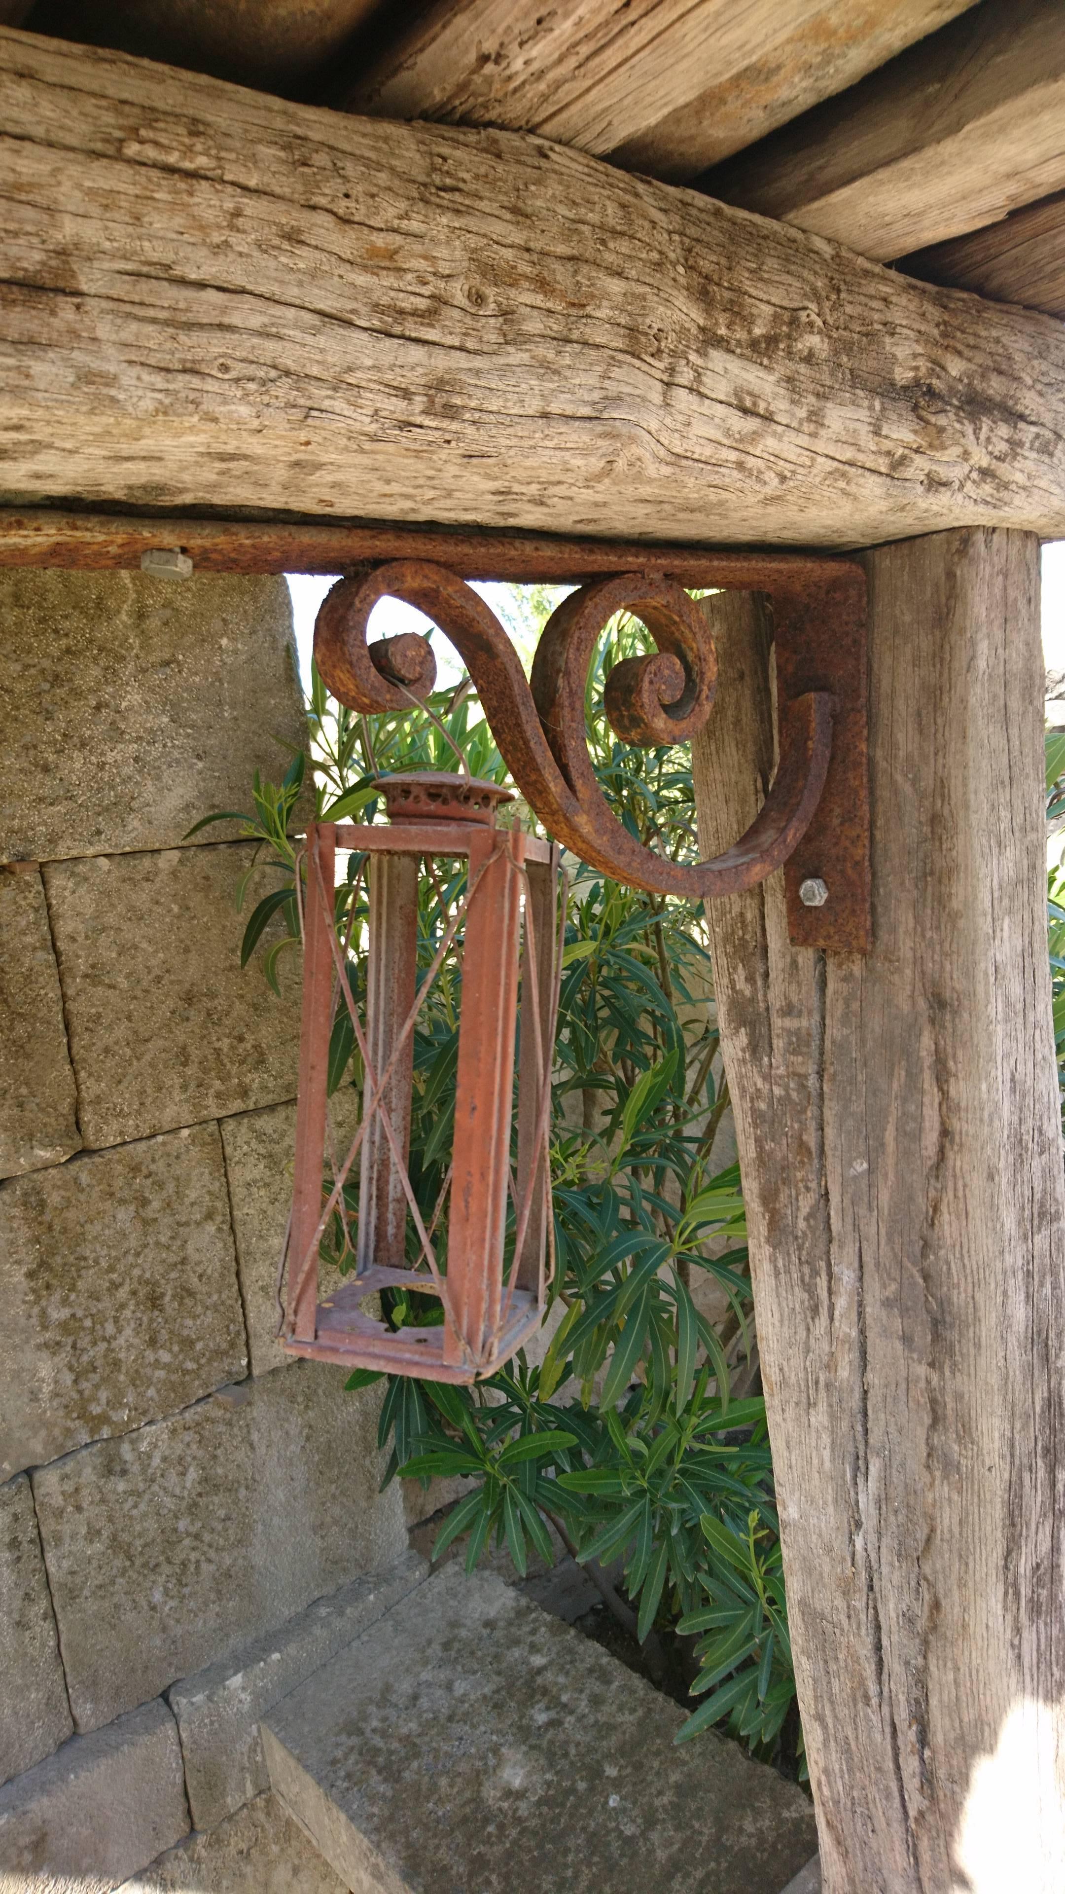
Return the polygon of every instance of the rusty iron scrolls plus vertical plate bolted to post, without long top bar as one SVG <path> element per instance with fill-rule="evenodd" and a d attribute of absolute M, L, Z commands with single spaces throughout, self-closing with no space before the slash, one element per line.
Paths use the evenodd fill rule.
<path fill-rule="evenodd" d="M 722 559 L 743 585 L 743 557 Z M 728 576 L 724 576 L 728 574 Z M 749 587 L 766 583 L 750 559 Z M 713 580 L 709 581 L 713 583 Z M 616 665 L 605 706 L 635 744 L 688 742 L 711 716 L 716 652 L 711 629 L 677 580 L 623 572 L 578 587 L 553 612 L 527 682 L 489 604 L 447 566 L 398 559 L 339 580 L 318 612 L 315 657 L 334 697 L 362 712 L 407 710 L 436 682 L 417 634 L 368 644 L 379 599 L 402 599 L 457 646 L 500 754 L 544 828 L 584 862 L 629 886 L 711 900 L 785 869 L 796 945 L 866 953 L 870 811 L 864 574 L 849 561 L 805 564 L 767 589 L 777 655 L 779 761 L 749 831 L 711 862 L 671 862 L 642 847 L 612 814 L 587 756 L 587 667 L 606 621 L 627 610 L 658 650 Z"/>

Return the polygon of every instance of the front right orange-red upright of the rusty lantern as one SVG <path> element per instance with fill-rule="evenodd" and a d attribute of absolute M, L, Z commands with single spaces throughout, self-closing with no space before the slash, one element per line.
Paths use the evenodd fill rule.
<path fill-rule="evenodd" d="M 479 1356 L 500 1313 L 517 962 L 525 837 L 483 828 L 470 835 L 470 907 L 462 945 L 462 1017 L 455 1078 L 451 1214 L 443 1360 Z"/>

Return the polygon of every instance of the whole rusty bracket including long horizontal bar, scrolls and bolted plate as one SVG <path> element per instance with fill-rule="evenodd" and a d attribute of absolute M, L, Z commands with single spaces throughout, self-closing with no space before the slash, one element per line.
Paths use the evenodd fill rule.
<path fill-rule="evenodd" d="M 375 602 L 409 583 L 406 597 L 438 617 L 459 646 L 515 782 L 559 841 L 622 881 L 695 898 L 749 888 L 783 862 L 792 941 L 868 951 L 866 614 L 864 572 L 855 561 L 479 528 L 0 508 L 0 568 L 138 570 L 159 547 L 180 547 L 197 572 L 349 572 L 326 600 L 330 631 L 320 663 L 324 674 L 334 665 L 328 682 L 335 695 L 368 710 L 407 708 L 396 684 L 415 695 L 432 688 L 421 638 L 390 640 L 388 650 L 370 653 L 366 617 L 358 623 L 364 597 Z M 544 633 L 532 695 L 502 625 L 464 580 L 580 585 L 578 602 L 567 600 Z M 606 712 L 631 741 L 686 741 L 711 714 L 714 652 L 684 587 L 711 585 L 758 591 L 771 604 L 781 769 L 747 837 L 716 864 L 680 867 L 639 849 L 599 794 L 584 752 L 580 665 L 595 642 L 595 614 L 610 599 L 637 612 L 646 604 L 658 614 L 658 629 L 646 623 L 656 640 L 661 633 L 659 655 L 618 667 Z"/>

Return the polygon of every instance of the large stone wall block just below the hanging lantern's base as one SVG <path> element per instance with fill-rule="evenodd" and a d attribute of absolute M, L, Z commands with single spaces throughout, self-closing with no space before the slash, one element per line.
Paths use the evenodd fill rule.
<path fill-rule="evenodd" d="M 299 1362 L 32 1475 L 76 1729 L 400 1557 L 377 1388 L 343 1383 Z"/>

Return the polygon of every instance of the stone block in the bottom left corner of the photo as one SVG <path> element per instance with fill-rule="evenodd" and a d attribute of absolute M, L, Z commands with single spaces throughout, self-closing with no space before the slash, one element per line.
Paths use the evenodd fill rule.
<path fill-rule="evenodd" d="M 178 1727 L 146 1703 L 0 1788 L 0 1894 L 110 1894 L 188 1831 Z"/>

